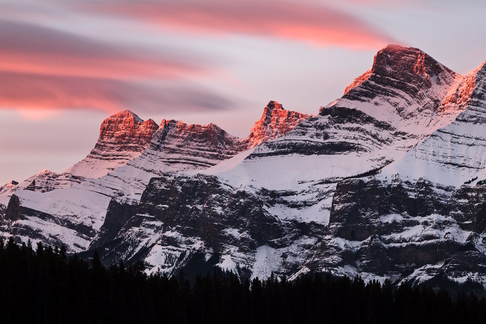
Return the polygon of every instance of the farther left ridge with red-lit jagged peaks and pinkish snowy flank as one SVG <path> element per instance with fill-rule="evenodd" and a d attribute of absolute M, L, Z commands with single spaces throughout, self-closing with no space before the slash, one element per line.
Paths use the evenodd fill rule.
<path fill-rule="evenodd" d="M 82 161 L 61 174 L 43 170 L 5 189 L 0 194 L 0 211 L 5 211 L 0 232 L 19 240 L 64 243 L 71 252 L 84 251 L 98 234 L 112 200 L 137 204 L 152 177 L 216 165 L 282 136 L 309 117 L 271 101 L 254 133 L 238 138 L 215 124 L 164 119 L 155 126 L 151 119 L 143 121 L 122 111 L 103 121 L 95 148 Z M 29 186 L 33 190 L 25 190 Z"/>

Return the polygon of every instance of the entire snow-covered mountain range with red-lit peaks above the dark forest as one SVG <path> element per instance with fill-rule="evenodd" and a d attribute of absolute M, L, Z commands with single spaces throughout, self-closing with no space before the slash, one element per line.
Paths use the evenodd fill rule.
<path fill-rule="evenodd" d="M 269 102 L 246 138 L 121 112 L 83 161 L 2 189 L 0 229 L 148 271 L 484 281 L 485 63 L 389 45 L 318 115 Z"/>

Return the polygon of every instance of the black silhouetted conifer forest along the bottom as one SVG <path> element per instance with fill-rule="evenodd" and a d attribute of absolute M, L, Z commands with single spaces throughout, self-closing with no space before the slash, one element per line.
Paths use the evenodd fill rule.
<path fill-rule="evenodd" d="M 193 284 L 147 275 L 142 262 L 105 267 L 64 247 L 0 240 L 0 322 L 9 323 L 486 323 L 486 301 L 446 290 L 392 289 L 389 280 L 329 273 L 243 282 L 216 269 Z"/>

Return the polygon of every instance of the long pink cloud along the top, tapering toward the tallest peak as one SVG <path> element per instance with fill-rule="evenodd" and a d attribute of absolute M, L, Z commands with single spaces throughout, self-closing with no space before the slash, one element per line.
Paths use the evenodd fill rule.
<path fill-rule="evenodd" d="M 318 4 L 179 0 L 83 1 L 77 5 L 196 33 L 253 34 L 353 49 L 377 49 L 393 41 L 358 17 Z"/>

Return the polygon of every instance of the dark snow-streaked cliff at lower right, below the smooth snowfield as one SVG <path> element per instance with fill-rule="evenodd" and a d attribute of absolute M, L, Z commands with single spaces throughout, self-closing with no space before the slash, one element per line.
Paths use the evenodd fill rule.
<path fill-rule="evenodd" d="M 396 280 L 407 273 L 419 281 L 441 272 L 456 278 L 484 276 L 484 265 L 471 265 L 486 251 L 485 187 L 450 189 L 425 179 L 411 184 L 398 176 L 340 182 L 326 236 L 312 248 L 303 267 Z M 454 264 L 451 272 L 451 263 L 458 259 L 462 265 Z"/>

